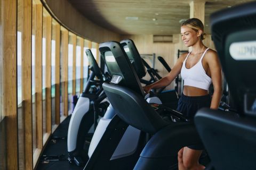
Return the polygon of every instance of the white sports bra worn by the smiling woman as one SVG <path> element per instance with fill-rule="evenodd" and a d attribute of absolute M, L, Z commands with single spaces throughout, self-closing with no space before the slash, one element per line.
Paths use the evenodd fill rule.
<path fill-rule="evenodd" d="M 203 57 L 208 49 L 209 48 L 207 48 L 204 51 L 203 55 L 201 56 L 200 60 L 196 63 L 196 65 L 194 65 L 190 69 L 186 68 L 186 61 L 191 52 L 188 53 L 181 68 L 181 78 L 184 80 L 183 86 L 192 86 L 204 90 L 209 90 L 209 86 L 212 83 L 212 79 L 206 74 L 202 64 Z"/>

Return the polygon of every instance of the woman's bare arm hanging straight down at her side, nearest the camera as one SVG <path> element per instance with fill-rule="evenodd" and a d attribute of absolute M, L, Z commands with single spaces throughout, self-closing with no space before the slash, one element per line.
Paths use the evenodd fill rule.
<path fill-rule="evenodd" d="M 208 55 L 208 57 L 206 57 L 206 62 L 209 65 L 212 84 L 214 88 L 210 108 L 218 109 L 220 105 L 221 94 L 222 94 L 222 76 L 221 76 L 221 65 L 220 65 L 217 53 L 212 50 L 211 53 Z"/>

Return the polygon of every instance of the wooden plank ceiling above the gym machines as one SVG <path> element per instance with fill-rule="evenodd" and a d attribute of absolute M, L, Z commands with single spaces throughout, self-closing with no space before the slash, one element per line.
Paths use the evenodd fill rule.
<path fill-rule="evenodd" d="M 68 0 L 87 19 L 121 35 L 180 33 L 180 20 L 189 18 L 191 0 Z M 205 32 L 210 14 L 252 0 L 206 0 Z M 138 20 L 127 20 L 137 17 Z M 155 20 L 155 21 L 154 21 Z"/>

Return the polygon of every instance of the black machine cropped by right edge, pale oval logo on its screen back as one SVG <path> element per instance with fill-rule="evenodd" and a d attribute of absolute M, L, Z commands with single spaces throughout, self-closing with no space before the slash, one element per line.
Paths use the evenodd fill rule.
<path fill-rule="evenodd" d="M 256 2 L 213 13 L 212 39 L 238 115 L 200 109 L 196 128 L 213 169 L 256 169 Z M 238 69 L 239 68 L 239 69 Z"/>

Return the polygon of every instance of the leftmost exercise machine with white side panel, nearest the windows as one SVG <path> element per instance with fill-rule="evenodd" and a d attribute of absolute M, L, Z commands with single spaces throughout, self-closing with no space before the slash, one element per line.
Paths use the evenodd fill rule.
<path fill-rule="evenodd" d="M 88 159 L 83 151 L 84 145 L 86 141 L 90 143 L 99 115 L 102 117 L 109 105 L 107 100 L 103 102 L 106 95 L 101 86 L 103 82 L 110 80 L 110 75 L 101 71 L 90 49 L 86 49 L 85 53 L 89 59 L 91 73 L 71 115 L 67 136 L 69 163 L 78 166 Z M 100 88 L 94 94 L 89 92 L 93 85 Z"/>

